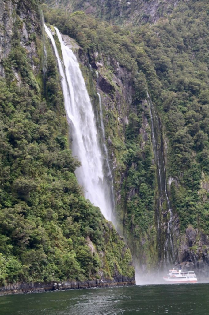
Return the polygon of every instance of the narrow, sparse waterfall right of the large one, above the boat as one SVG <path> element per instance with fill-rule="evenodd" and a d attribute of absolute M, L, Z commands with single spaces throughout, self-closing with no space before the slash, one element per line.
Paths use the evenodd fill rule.
<path fill-rule="evenodd" d="M 155 162 L 157 164 L 157 171 L 158 171 L 158 183 L 159 183 L 158 189 L 160 191 L 160 196 L 157 201 L 158 232 L 160 228 L 160 215 L 159 215 L 160 198 L 163 192 L 165 193 L 166 202 L 167 202 L 168 210 L 170 213 L 166 240 L 164 244 L 164 262 L 165 262 L 165 265 L 169 265 L 174 260 L 174 245 L 173 245 L 172 232 L 171 232 L 173 212 L 172 212 L 171 203 L 169 200 L 169 195 L 168 195 L 168 190 L 167 190 L 163 137 L 162 137 L 162 131 L 160 127 L 160 122 L 159 122 L 158 116 L 156 114 L 155 108 L 153 106 L 152 100 L 148 92 L 147 92 L 147 101 L 149 104 L 150 118 L 151 118 L 151 135 L 152 135 L 153 151 L 154 151 L 154 157 L 155 157 Z M 159 140 L 158 140 L 158 137 L 160 137 Z"/>

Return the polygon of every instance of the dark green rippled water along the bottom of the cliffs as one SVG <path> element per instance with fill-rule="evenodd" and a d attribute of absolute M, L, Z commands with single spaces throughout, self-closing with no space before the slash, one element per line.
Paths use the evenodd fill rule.
<path fill-rule="evenodd" d="M 160 284 L 2 296 L 0 314 L 209 315 L 209 284 Z"/>

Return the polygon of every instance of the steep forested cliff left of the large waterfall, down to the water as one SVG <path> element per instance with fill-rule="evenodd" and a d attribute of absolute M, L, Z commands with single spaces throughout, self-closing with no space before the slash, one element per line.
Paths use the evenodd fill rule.
<path fill-rule="evenodd" d="M 0 1 L 0 16 L 0 291 L 134 283 L 130 250 L 76 180 L 40 3 Z"/>

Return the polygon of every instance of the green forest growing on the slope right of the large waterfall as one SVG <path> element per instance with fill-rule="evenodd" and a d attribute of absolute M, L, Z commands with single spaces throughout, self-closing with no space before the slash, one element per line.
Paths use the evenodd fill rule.
<path fill-rule="evenodd" d="M 82 6 L 78 4 L 78 8 Z M 179 2 L 171 15 L 156 24 L 130 30 L 111 26 L 81 11 L 69 15 L 62 10 L 45 9 L 46 20 L 74 38 L 89 62 L 103 61 L 99 71 L 112 85 L 115 83 L 108 73 L 116 74 L 116 62 L 131 74 L 133 102 L 128 108 L 127 127 L 115 123 L 113 117 L 117 119 L 117 113 L 113 116 L 112 109 L 105 109 L 106 136 L 112 135 L 110 149 L 118 165 L 115 189 L 121 199 L 117 211 L 129 245 L 154 229 L 157 183 L 150 130 L 147 127 L 145 146 L 140 131 L 143 115 L 149 122 L 148 111 L 142 106 L 147 89 L 162 121 L 167 177 L 173 179 L 171 202 L 179 217 L 180 231 L 184 233 L 192 225 L 203 234 L 209 232 L 209 196 L 201 184 L 209 169 L 208 12 L 207 1 Z M 116 92 L 110 97 L 117 107 Z M 118 128 L 123 129 L 123 135 Z M 121 176 L 123 182 L 118 184 Z"/>

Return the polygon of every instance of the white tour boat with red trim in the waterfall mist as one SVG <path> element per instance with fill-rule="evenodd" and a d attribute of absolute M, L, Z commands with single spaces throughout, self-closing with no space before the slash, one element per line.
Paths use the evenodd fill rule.
<path fill-rule="evenodd" d="M 174 268 L 169 270 L 167 277 L 163 277 L 163 280 L 168 283 L 196 283 L 197 278 L 194 271 L 176 271 Z"/>

